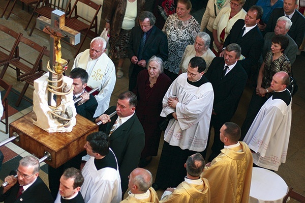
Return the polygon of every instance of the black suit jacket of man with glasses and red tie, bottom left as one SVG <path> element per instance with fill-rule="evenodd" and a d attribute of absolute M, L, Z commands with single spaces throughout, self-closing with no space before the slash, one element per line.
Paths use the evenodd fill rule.
<path fill-rule="evenodd" d="M 0 188 L 0 201 L 4 203 L 53 203 L 53 197 L 46 186 L 46 184 L 37 177 L 37 180 L 33 185 L 29 186 L 17 199 L 17 192 L 19 190 L 18 182 L 11 187 L 5 194 L 3 194 L 3 188 Z"/>

